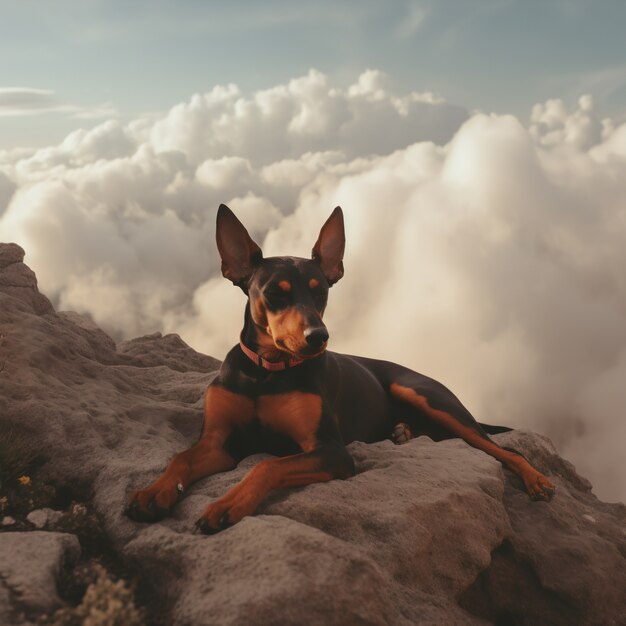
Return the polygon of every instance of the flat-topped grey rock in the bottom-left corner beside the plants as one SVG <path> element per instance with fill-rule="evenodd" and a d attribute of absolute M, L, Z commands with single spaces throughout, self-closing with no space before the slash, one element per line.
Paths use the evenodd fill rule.
<path fill-rule="evenodd" d="M 34 617 L 60 607 L 58 577 L 79 555 L 78 539 L 73 535 L 42 531 L 0 534 L 0 597 L 7 599 L 6 604 L 0 603 L 0 623 L 12 623 L 11 614 L 16 612 Z"/>

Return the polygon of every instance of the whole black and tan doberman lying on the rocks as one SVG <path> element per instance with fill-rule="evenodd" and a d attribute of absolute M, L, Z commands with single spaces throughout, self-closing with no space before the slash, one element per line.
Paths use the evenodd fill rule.
<path fill-rule="evenodd" d="M 328 289 L 343 276 L 339 207 L 322 227 L 311 259 L 263 258 L 224 205 L 217 214 L 217 246 L 222 273 L 248 296 L 240 342 L 206 392 L 200 440 L 133 494 L 129 517 L 162 519 L 198 479 L 233 469 L 254 453 L 275 455 L 206 508 L 197 526 L 215 533 L 252 515 L 273 489 L 353 476 L 346 445 L 390 436 L 397 443 L 418 435 L 461 437 L 518 474 L 532 499 L 552 497 L 554 486 L 545 476 L 487 434 L 509 429 L 479 424 L 441 383 L 395 363 L 326 349 Z"/>

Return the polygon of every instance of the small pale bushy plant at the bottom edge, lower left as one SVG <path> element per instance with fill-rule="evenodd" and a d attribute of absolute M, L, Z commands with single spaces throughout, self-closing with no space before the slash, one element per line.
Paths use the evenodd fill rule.
<path fill-rule="evenodd" d="M 144 626 L 132 589 L 124 580 L 114 581 L 100 564 L 96 579 L 77 607 L 59 609 L 52 626 Z"/>

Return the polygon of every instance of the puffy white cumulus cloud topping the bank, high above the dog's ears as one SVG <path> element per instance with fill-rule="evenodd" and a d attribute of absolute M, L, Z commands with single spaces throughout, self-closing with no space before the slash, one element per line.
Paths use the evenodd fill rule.
<path fill-rule="evenodd" d="M 348 158 L 385 153 L 411 140 L 446 141 L 467 118 L 432 94 L 393 96 L 380 72 L 365 72 L 342 90 L 311 70 L 245 98 L 235 85 L 216 87 L 174 107 L 150 129 L 156 150 L 184 152 L 194 163 L 244 156 L 255 164 L 339 150 Z"/>

